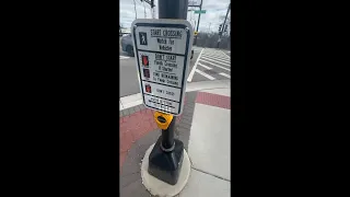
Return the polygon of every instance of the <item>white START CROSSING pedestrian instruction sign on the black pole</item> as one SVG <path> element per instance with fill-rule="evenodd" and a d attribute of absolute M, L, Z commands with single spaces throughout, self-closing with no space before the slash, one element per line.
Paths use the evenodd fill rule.
<path fill-rule="evenodd" d="M 145 107 L 175 116 L 182 114 L 192 34 L 186 20 L 132 22 L 133 51 Z"/>

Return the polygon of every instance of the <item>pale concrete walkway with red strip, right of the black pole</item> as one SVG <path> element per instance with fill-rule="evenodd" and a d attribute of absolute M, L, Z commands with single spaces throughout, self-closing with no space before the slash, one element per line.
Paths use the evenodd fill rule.
<path fill-rule="evenodd" d="M 230 89 L 197 93 L 188 142 L 191 171 L 180 197 L 231 196 Z"/>

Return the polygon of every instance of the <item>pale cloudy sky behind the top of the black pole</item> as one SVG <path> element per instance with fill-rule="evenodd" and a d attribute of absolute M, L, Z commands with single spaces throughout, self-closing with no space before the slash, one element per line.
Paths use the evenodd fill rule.
<path fill-rule="evenodd" d="M 197 1 L 200 4 L 200 0 L 189 0 Z M 219 25 L 223 23 L 223 19 L 220 19 L 221 15 L 225 15 L 228 12 L 228 7 L 231 0 L 202 0 L 202 10 L 207 12 L 200 14 L 199 30 L 198 32 L 218 32 Z M 136 12 L 135 12 L 136 4 Z M 122 27 L 130 27 L 132 21 L 136 19 L 152 19 L 151 7 L 145 2 L 140 0 L 119 0 L 120 16 L 119 24 Z M 154 0 L 154 13 L 155 19 L 158 19 L 158 0 Z M 199 8 L 189 7 L 188 10 L 199 10 Z M 145 15 L 144 15 L 145 10 Z M 230 15 L 230 12 L 229 12 Z M 189 21 L 192 26 L 198 22 L 198 14 L 195 14 L 194 11 L 187 12 L 187 21 Z"/>

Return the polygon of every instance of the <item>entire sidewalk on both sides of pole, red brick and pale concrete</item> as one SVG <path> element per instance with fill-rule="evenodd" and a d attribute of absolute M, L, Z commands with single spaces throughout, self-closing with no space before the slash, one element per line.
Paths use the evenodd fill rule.
<path fill-rule="evenodd" d="M 191 170 L 185 188 L 177 196 L 230 196 L 230 83 L 221 85 L 186 93 L 175 135 L 185 144 Z M 153 111 L 143 104 L 132 106 L 120 112 L 119 121 L 121 196 L 149 197 L 151 194 L 142 185 L 140 165 L 147 149 L 161 136 Z"/>

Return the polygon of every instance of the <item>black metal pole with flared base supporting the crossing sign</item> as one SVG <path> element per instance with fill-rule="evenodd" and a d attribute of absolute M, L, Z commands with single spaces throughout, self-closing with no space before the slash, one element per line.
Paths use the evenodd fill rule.
<path fill-rule="evenodd" d="M 188 0 L 159 0 L 159 19 L 187 20 Z M 168 127 L 162 128 L 160 143 L 155 143 L 149 157 L 149 174 L 154 177 L 175 185 L 178 181 L 183 165 L 184 143 L 174 139 L 176 116 L 164 114 L 167 118 L 160 118 L 154 113 L 154 118 L 160 123 L 168 123 Z M 162 116 L 161 116 L 162 117 Z"/>

